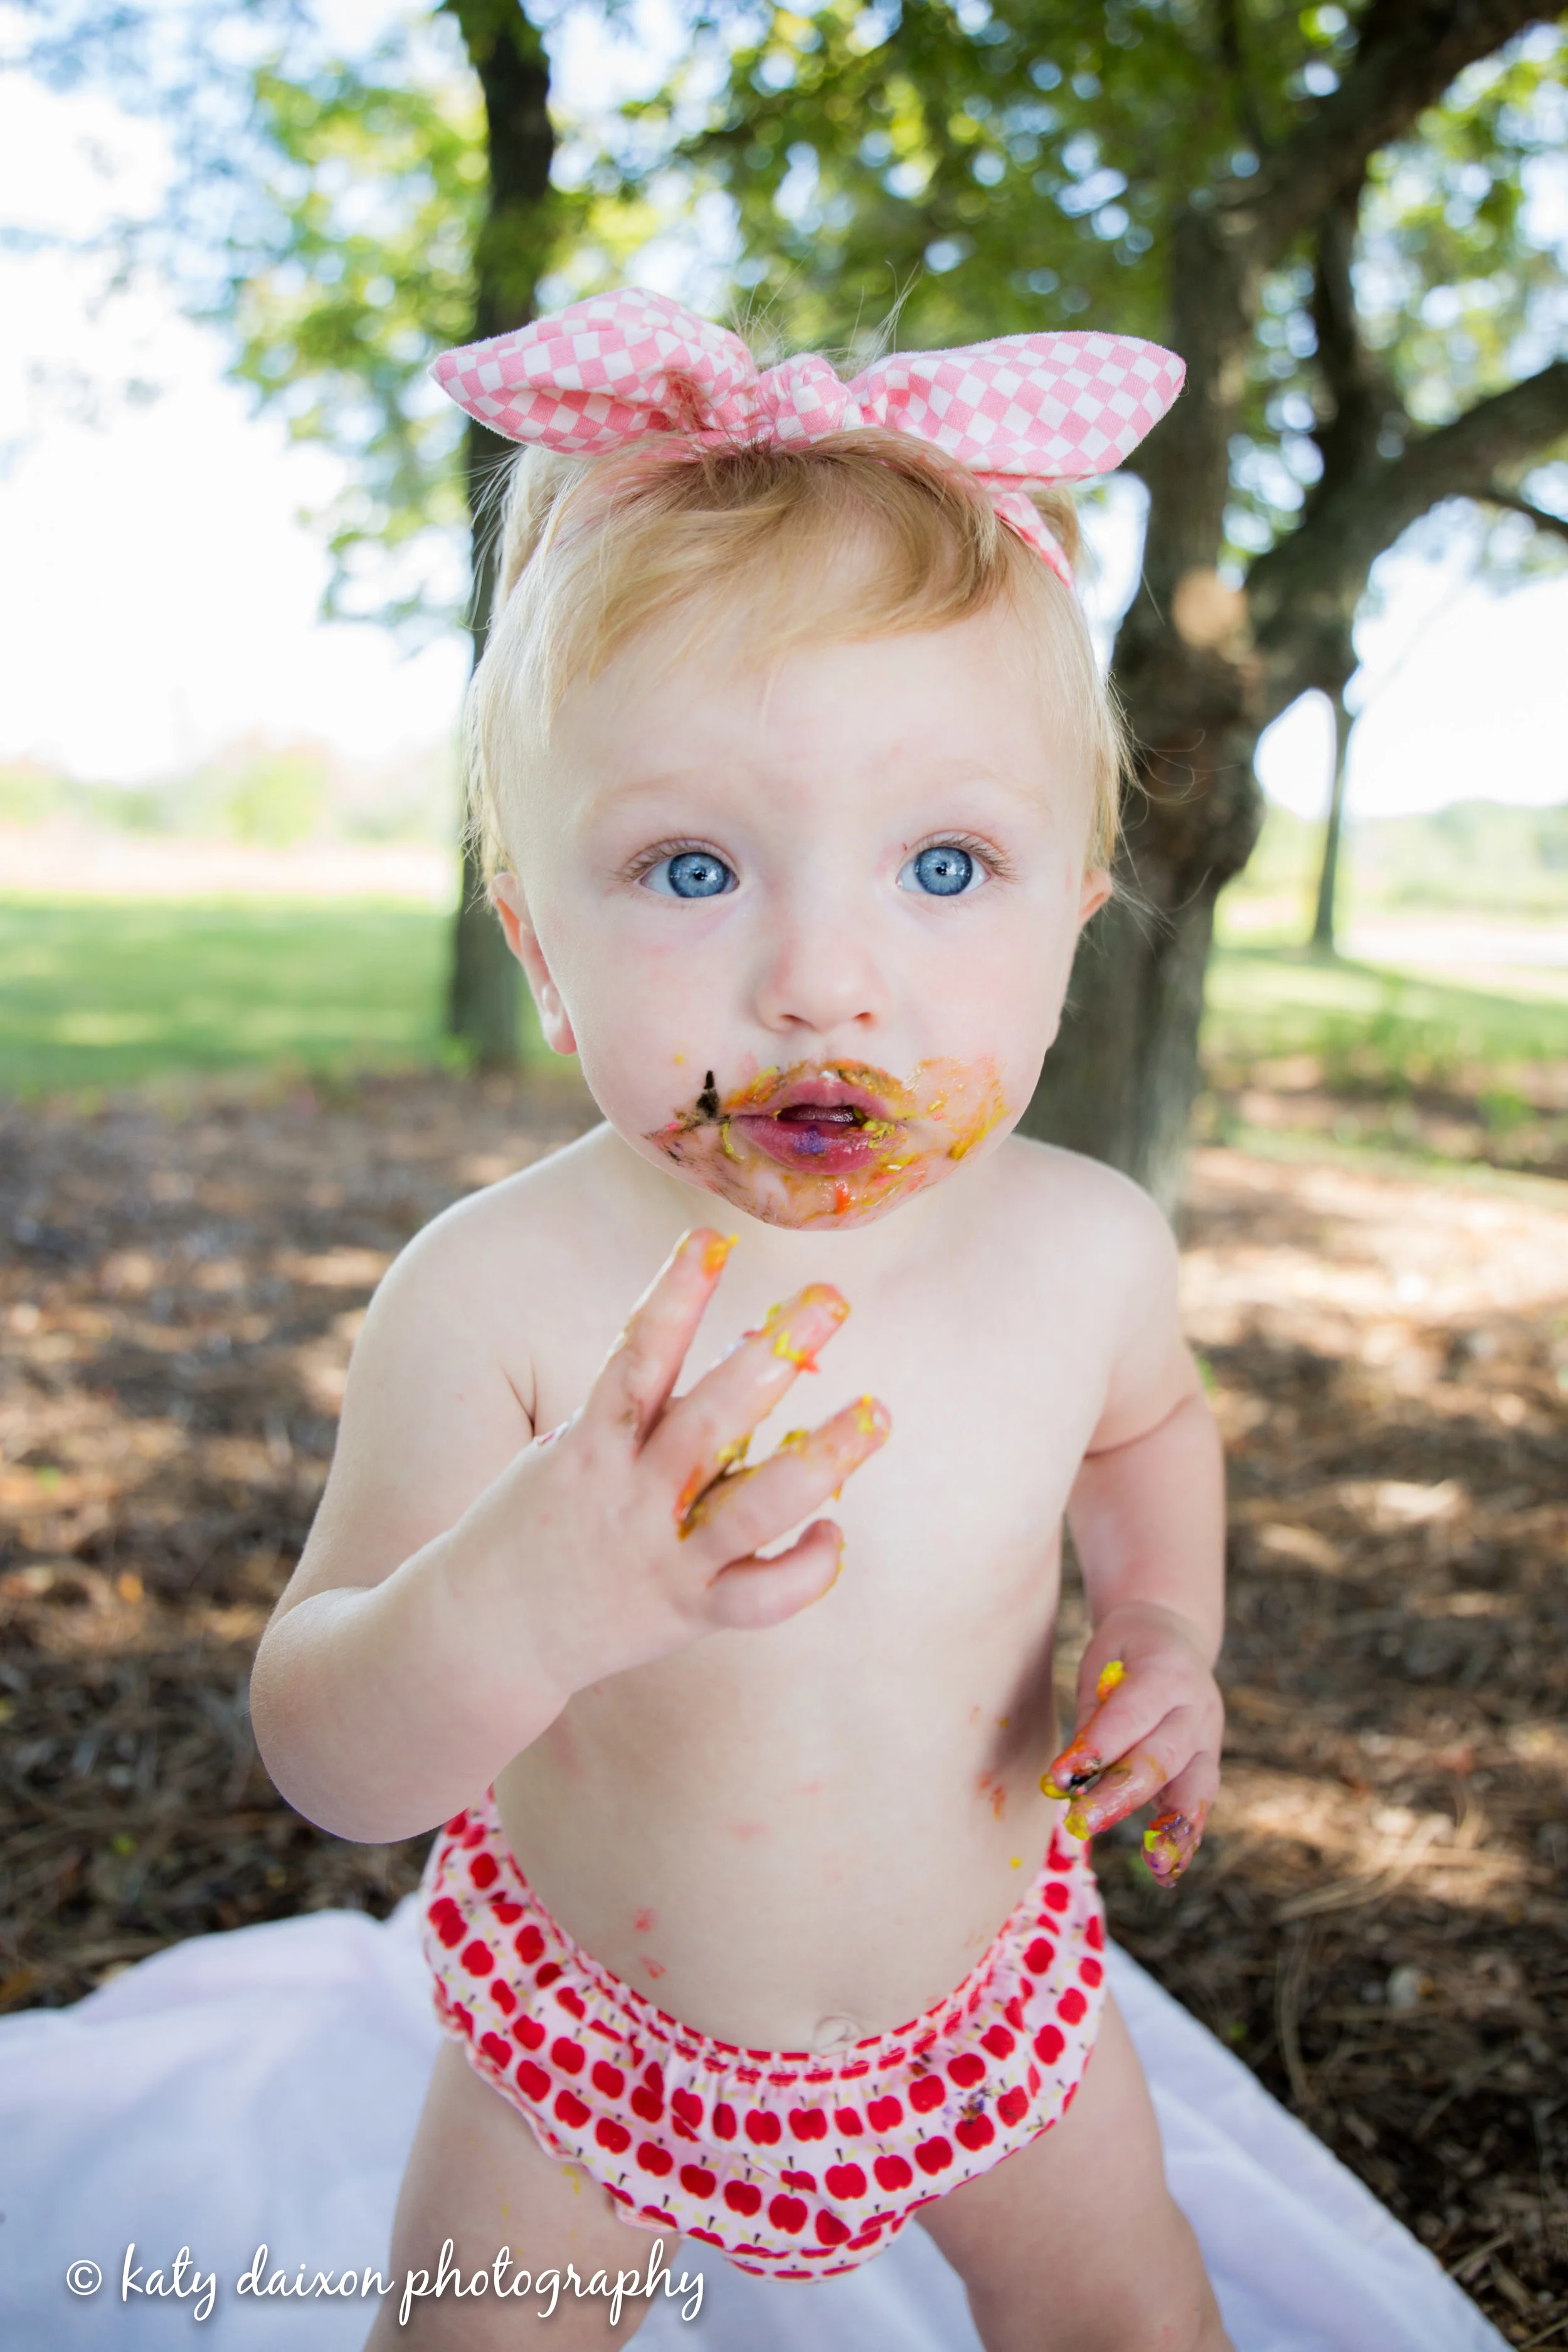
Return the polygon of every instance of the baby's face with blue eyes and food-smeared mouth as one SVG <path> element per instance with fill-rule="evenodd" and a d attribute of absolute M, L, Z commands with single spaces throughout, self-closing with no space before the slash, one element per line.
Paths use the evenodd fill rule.
<path fill-rule="evenodd" d="M 882 1216 L 1034 1091 L 1088 786 L 1025 626 L 661 663 L 574 689 L 496 901 L 557 1051 L 644 1157 L 771 1225 Z"/>

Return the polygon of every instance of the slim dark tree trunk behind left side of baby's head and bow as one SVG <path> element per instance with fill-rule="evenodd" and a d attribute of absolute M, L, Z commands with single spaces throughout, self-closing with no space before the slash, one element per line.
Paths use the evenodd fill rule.
<path fill-rule="evenodd" d="M 534 318 L 534 289 L 550 252 L 550 61 L 517 0 L 447 0 L 484 92 L 489 207 L 475 247 L 475 339 Z M 484 654 L 496 583 L 491 487 L 503 447 L 468 426 L 465 477 L 473 543 L 468 628 L 475 666 Z M 484 875 L 463 842 L 463 896 L 451 929 L 449 1033 L 482 1070 L 517 1061 L 522 974 L 484 896 Z"/>

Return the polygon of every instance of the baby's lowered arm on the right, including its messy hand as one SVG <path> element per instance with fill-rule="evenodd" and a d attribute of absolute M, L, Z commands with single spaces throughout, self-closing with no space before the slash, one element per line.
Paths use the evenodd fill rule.
<path fill-rule="evenodd" d="M 1225 1470 L 1175 1319 L 1175 1244 L 1143 1202 L 1128 1223 L 1126 1341 L 1067 1508 L 1093 1618 L 1079 1729 L 1041 1785 L 1072 1797 L 1077 1837 L 1159 1797 L 1143 1844 L 1171 1882 L 1220 1785 Z"/>

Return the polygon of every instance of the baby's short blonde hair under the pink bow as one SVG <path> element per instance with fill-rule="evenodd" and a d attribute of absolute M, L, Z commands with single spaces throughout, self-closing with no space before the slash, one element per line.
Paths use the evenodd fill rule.
<path fill-rule="evenodd" d="M 1072 560 L 1065 492 L 1037 492 Z M 858 560 L 844 560 L 846 555 Z M 569 687 L 639 630 L 675 654 L 743 612 L 778 661 L 945 628 L 992 604 L 1037 623 L 1070 748 L 1088 774 L 1086 868 L 1117 849 L 1128 769 L 1117 701 L 1072 588 L 999 522 L 964 466 L 903 433 L 860 428 L 792 449 L 649 435 L 614 456 L 524 449 L 501 532 L 494 621 L 468 694 L 468 826 L 484 873 L 510 863 L 505 814 Z"/>

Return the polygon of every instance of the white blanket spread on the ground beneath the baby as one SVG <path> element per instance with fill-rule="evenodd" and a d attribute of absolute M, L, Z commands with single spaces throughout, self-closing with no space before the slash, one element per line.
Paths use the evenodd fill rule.
<path fill-rule="evenodd" d="M 1112 1985 L 1239 2352 L 1497 2352 L 1432 2256 L 1124 1952 Z M 390 2267 L 435 2049 L 411 1898 L 386 1926 L 317 1912 L 197 1936 L 75 2009 L 0 2020 L 0 2343 L 357 2347 L 371 2314 L 341 2298 L 343 2274 Z M 628 2263 L 646 2260 L 630 2244 Z M 259 2246 L 263 2284 L 294 2284 L 303 2265 L 301 2284 L 320 2272 L 334 2296 L 237 2293 Z M 96 2265 L 99 2288 L 73 2293 L 71 2265 Z M 696 2277 L 689 2249 L 677 2279 L 682 2267 Z M 708 2253 L 701 2270 L 696 2319 L 661 2293 L 639 2347 L 978 2352 L 959 2281 L 922 2230 L 811 2286 Z M 78 2272 L 78 2286 L 89 2279 Z M 183 2298 L 153 2298 L 155 2281 Z"/>

